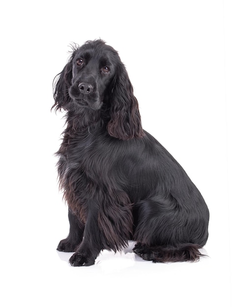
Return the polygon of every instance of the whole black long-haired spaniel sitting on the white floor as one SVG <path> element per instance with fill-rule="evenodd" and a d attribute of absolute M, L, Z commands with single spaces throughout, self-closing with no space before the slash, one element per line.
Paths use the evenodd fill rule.
<path fill-rule="evenodd" d="M 73 46 L 55 77 L 52 108 L 66 112 L 58 155 L 69 235 L 59 251 L 73 266 L 101 250 L 156 262 L 198 261 L 209 211 L 183 168 L 143 130 L 138 101 L 118 53 L 102 40 Z"/>

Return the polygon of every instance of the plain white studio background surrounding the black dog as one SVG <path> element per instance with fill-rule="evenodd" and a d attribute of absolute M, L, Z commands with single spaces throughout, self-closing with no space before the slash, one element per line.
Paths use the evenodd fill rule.
<path fill-rule="evenodd" d="M 0 29 L 1 307 L 231 307 L 232 1 L 5 1 Z M 64 121 L 53 78 L 71 42 L 104 39 L 125 63 L 144 128 L 210 211 L 198 263 L 153 264 L 129 248 L 89 268 L 58 253 L 68 233 L 56 158 Z M 127 253 L 125 253 L 127 252 Z"/>

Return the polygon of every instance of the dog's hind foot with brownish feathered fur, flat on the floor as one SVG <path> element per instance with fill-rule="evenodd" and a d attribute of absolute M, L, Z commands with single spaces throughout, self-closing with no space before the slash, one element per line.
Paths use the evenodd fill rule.
<path fill-rule="evenodd" d="M 134 252 L 144 260 L 153 261 L 154 263 L 166 262 L 196 262 L 199 261 L 202 254 L 199 249 L 202 246 L 197 244 L 180 244 L 174 246 L 147 246 L 138 243 L 134 247 Z"/>

